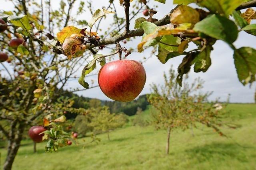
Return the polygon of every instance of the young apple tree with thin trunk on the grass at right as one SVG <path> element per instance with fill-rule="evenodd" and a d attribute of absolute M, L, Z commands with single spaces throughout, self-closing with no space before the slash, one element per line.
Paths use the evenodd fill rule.
<path fill-rule="evenodd" d="M 153 114 L 156 128 L 167 130 L 166 153 L 169 153 L 170 133 L 177 127 L 185 130 L 196 127 L 196 122 L 199 122 L 223 135 L 218 127 L 224 124 L 224 112 L 220 106 L 208 102 L 211 93 L 200 92 L 203 81 L 198 78 L 190 85 L 185 79 L 181 87 L 174 70 L 170 69 L 169 74 L 164 74 L 164 85 L 160 88 L 152 84 L 152 94 L 148 95 L 148 101 L 157 110 Z"/>

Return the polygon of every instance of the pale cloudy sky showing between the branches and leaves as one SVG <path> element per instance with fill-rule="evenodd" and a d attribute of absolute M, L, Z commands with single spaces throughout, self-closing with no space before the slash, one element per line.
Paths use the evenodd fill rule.
<path fill-rule="evenodd" d="M 86 2 L 86 0 L 84 0 Z M 151 0 L 152 1 L 152 0 Z M 13 5 L 12 2 L 9 0 L 0 0 L 0 10 L 12 10 Z M 76 4 L 74 5 L 74 9 L 77 9 L 80 0 L 77 0 Z M 94 0 L 94 10 L 98 8 L 102 8 L 108 5 L 108 0 Z M 99 3 L 100 2 L 100 3 Z M 124 16 L 123 7 L 119 5 L 119 0 L 114 0 L 117 8 L 117 12 L 119 16 Z M 4 3 L 4 5 L 3 5 Z M 162 18 L 165 14 L 170 12 L 170 10 L 174 7 L 172 4 L 172 0 L 167 0 L 166 5 L 160 4 L 158 2 L 153 2 L 149 5 L 150 7 L 153 4 L 158 5 L 157 11 L 158 13 L 155 15 L 155 18 Z M 52 1 L 52 8 L 57 9 L 59 7 L 59 0 Z M 72 11 L 72 13 L 76 13 L 76 11 Z M 111 15 L 111 14 L 109 14 Z M 86 16 L 88 18 L 91 17 L 90 13 L 86 12 L 83 17 Z M 142 14 L 138 15 L 141 17 Z M 137 17 L 137 18 L 138 18 Z M 79 18 L 78 18 L 79 19 Z M 104 25 L 108 25 L 110 21 L 112 21 L 112 16 L 108 16 L 106 20 L 102 22 L 102 29 L 104 30 Z M 131 29 L 134 27 L 134 20 L 131 21 Z M 58 28 L 56 28 L 58 31 Z M 59 30 L 61 30 L 60 28 Z M 133 47 L 136 48 L 137 44 L 141 41 L 141 37 L 137 37 L 132 42 L 128 42 L 126 45 L 122 44 L 127 48 Z M 253 35 L 249 35 L 245 32 L 241 32 L 239 34 L 238 39 L 234 43 L 236 48 L 240 47 L 253 47 L 256 48 L 256 37 Z M 223 41 L 217 41 L 216 44 L 213 46 L 214 51 L 211 53 L 212 65 L 205 73 L 194 73 L 193 69 L 191 69 L 189 76 L 190 81 L 194 78 L 200 76 L 202 79 L 205 80 L 204 84 L 204 91 L 213 91 L 214 93 L 210 97 L 210 100 L 215 100 L 216 98 L 220 97 L 222 101 L 226 100 L 228 94 L 230 96 L 230 102 L 254 102 L 254 92 L 256 89 L 256 83 L 252 85 L 250 88 L 249 86 L 243 86 L 239 81 L 236 74 L 236 69 L 234 66 L 234 59 L 233 59 L 233 50 Z M 190 47 L 189 49 L 192 49 Z M 188 49 L 188 50 L 189 50 Z M 102 51 L 102 54 L 108 54 L 108 50 Z M 143 53 L 132 53 L 128 56 L 128 59 L 134 59 L 137 61 L 142 60 L 143 57 L 151 57 L 150 49 L 145 50 Z M 117 57 L 118 58 L 118 57 Z M 160 63 L 156 56 L 152 56 L 146 63 L 143 63 L 143 66 L 146 70 L 147 80 L 144 89 L 142 90 L 141 94 L 147 94 L 150 92 L 150 84 L 152 82 L 156 84 L 163 83 L 163 73 L 168 72 L 171 65 L 177 70 L 178 65 L 181 63 L 183 57 L 175 57 L 174 59 L 170 59 L 166 64 Z M 86 64 L 86 63 L 85 63 Z M 99 68 L 98 68 L 99 69 Z M 79 76 L 81 74 L 82 68 L 77 72 Z M 98 84 L 97 76 L 94 76 L 96 80 L 94 85 Z M 78 84 L 77 80 L 70 81 L 68 83 L 67 88 L 69 87 L 81 87 Z M 110 100 L 108 99 L 100 90 L 100 88 L 93 88 L 90 90 L 85 90 L 82 92 L 78 92 L 77 94 L 83 95 L 90 98 L 98 98 L 101 100 Z"/>

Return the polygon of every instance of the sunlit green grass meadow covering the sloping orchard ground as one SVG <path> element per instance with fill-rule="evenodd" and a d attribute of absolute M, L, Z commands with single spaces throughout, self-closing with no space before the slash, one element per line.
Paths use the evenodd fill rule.
<path fill-rule="evenodd" d="M 190 130 L 171 133 L 170 154 L 165 154 L 166 131 L 154 127 L 126 126 L 98 135 L 101 143 L 84 149 L 79 146 L 61 148 L 58 153 L 45 153 L 45 143 L 33 153 L 31 141 L 23 141 L 13 170 L 255 170 L 256 169 L 256 105 L 229 104 L 231 117 L 242 125 L 238 129 L 223 127 L 229 138 L 220 137 L 200 125 Z M 146 110 L 145 115 L 150 116 Z M 85 138 L 87 142 L 90 138 Z M 1 166 L 6 149 L 0 149 Z"/>

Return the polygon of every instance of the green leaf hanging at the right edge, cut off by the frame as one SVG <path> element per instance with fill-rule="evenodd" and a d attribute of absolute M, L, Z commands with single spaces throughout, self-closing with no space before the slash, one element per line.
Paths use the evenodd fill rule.
<path fill-rule="evenodd" d="M 239 81 L 246 85 L 255 81 L 256 76 L 256 50 L 242 47 L 234 51 L 234 63 Z"/>

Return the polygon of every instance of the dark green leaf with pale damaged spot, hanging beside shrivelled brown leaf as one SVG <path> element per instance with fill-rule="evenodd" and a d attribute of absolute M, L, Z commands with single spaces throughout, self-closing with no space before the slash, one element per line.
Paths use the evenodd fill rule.
<path fill-rule="evenodd" d="M 194 65 L 194 72 L 206 72 L 210 65 L 212 64 L 210 53 L 211 53 L 212 47 L 207 46 L 204 51 L 198 53 L 196 55 L 196 58 L 194 59 L 193 63 Z"/>

